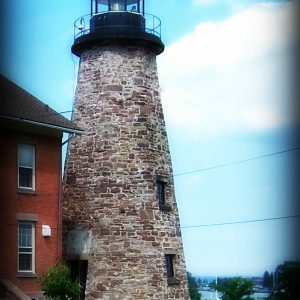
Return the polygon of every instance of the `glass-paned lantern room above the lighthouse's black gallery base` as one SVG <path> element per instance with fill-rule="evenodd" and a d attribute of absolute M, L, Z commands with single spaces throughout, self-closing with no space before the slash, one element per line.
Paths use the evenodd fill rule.
<path fill-rule="evenodd" d="M 120 11 L 144 15 L 144 0 L 91 0 L 91 15 Z"/>

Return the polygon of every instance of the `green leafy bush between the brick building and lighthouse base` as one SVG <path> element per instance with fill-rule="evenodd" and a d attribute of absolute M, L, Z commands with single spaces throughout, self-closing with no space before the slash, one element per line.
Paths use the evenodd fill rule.
<path fill-rule="evenodd" d="M 80 294 L 80 283 L 71 279 L 70 268 L 57 263 L 38 279 L 44 295 L 55 300 L 76 299 Z"/>

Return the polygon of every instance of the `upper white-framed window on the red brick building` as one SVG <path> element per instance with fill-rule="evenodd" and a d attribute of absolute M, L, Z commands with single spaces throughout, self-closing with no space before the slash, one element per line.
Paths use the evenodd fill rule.
<path fill-rule="evenodd" d="M 35 190 L 35 146 L 19 144 L 18 187 Z"/>

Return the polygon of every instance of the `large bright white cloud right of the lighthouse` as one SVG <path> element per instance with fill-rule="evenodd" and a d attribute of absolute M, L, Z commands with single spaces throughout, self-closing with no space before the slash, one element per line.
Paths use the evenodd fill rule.
<path fill-rule="evenodd" d="M 167 47 L 158 66 L 168 125 L 206 136 L 290 123 L 294 5 L 257 4 Z"/>

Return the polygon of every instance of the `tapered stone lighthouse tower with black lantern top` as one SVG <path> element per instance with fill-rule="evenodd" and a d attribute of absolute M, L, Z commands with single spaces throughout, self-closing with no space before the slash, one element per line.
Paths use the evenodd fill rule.
<path fill-rule="evenodd" d="M 81 298 L 189 299 L 159 94 L 160 20 L 144 0 L 92 0 L 63 184 L 65 257 Z"/>

